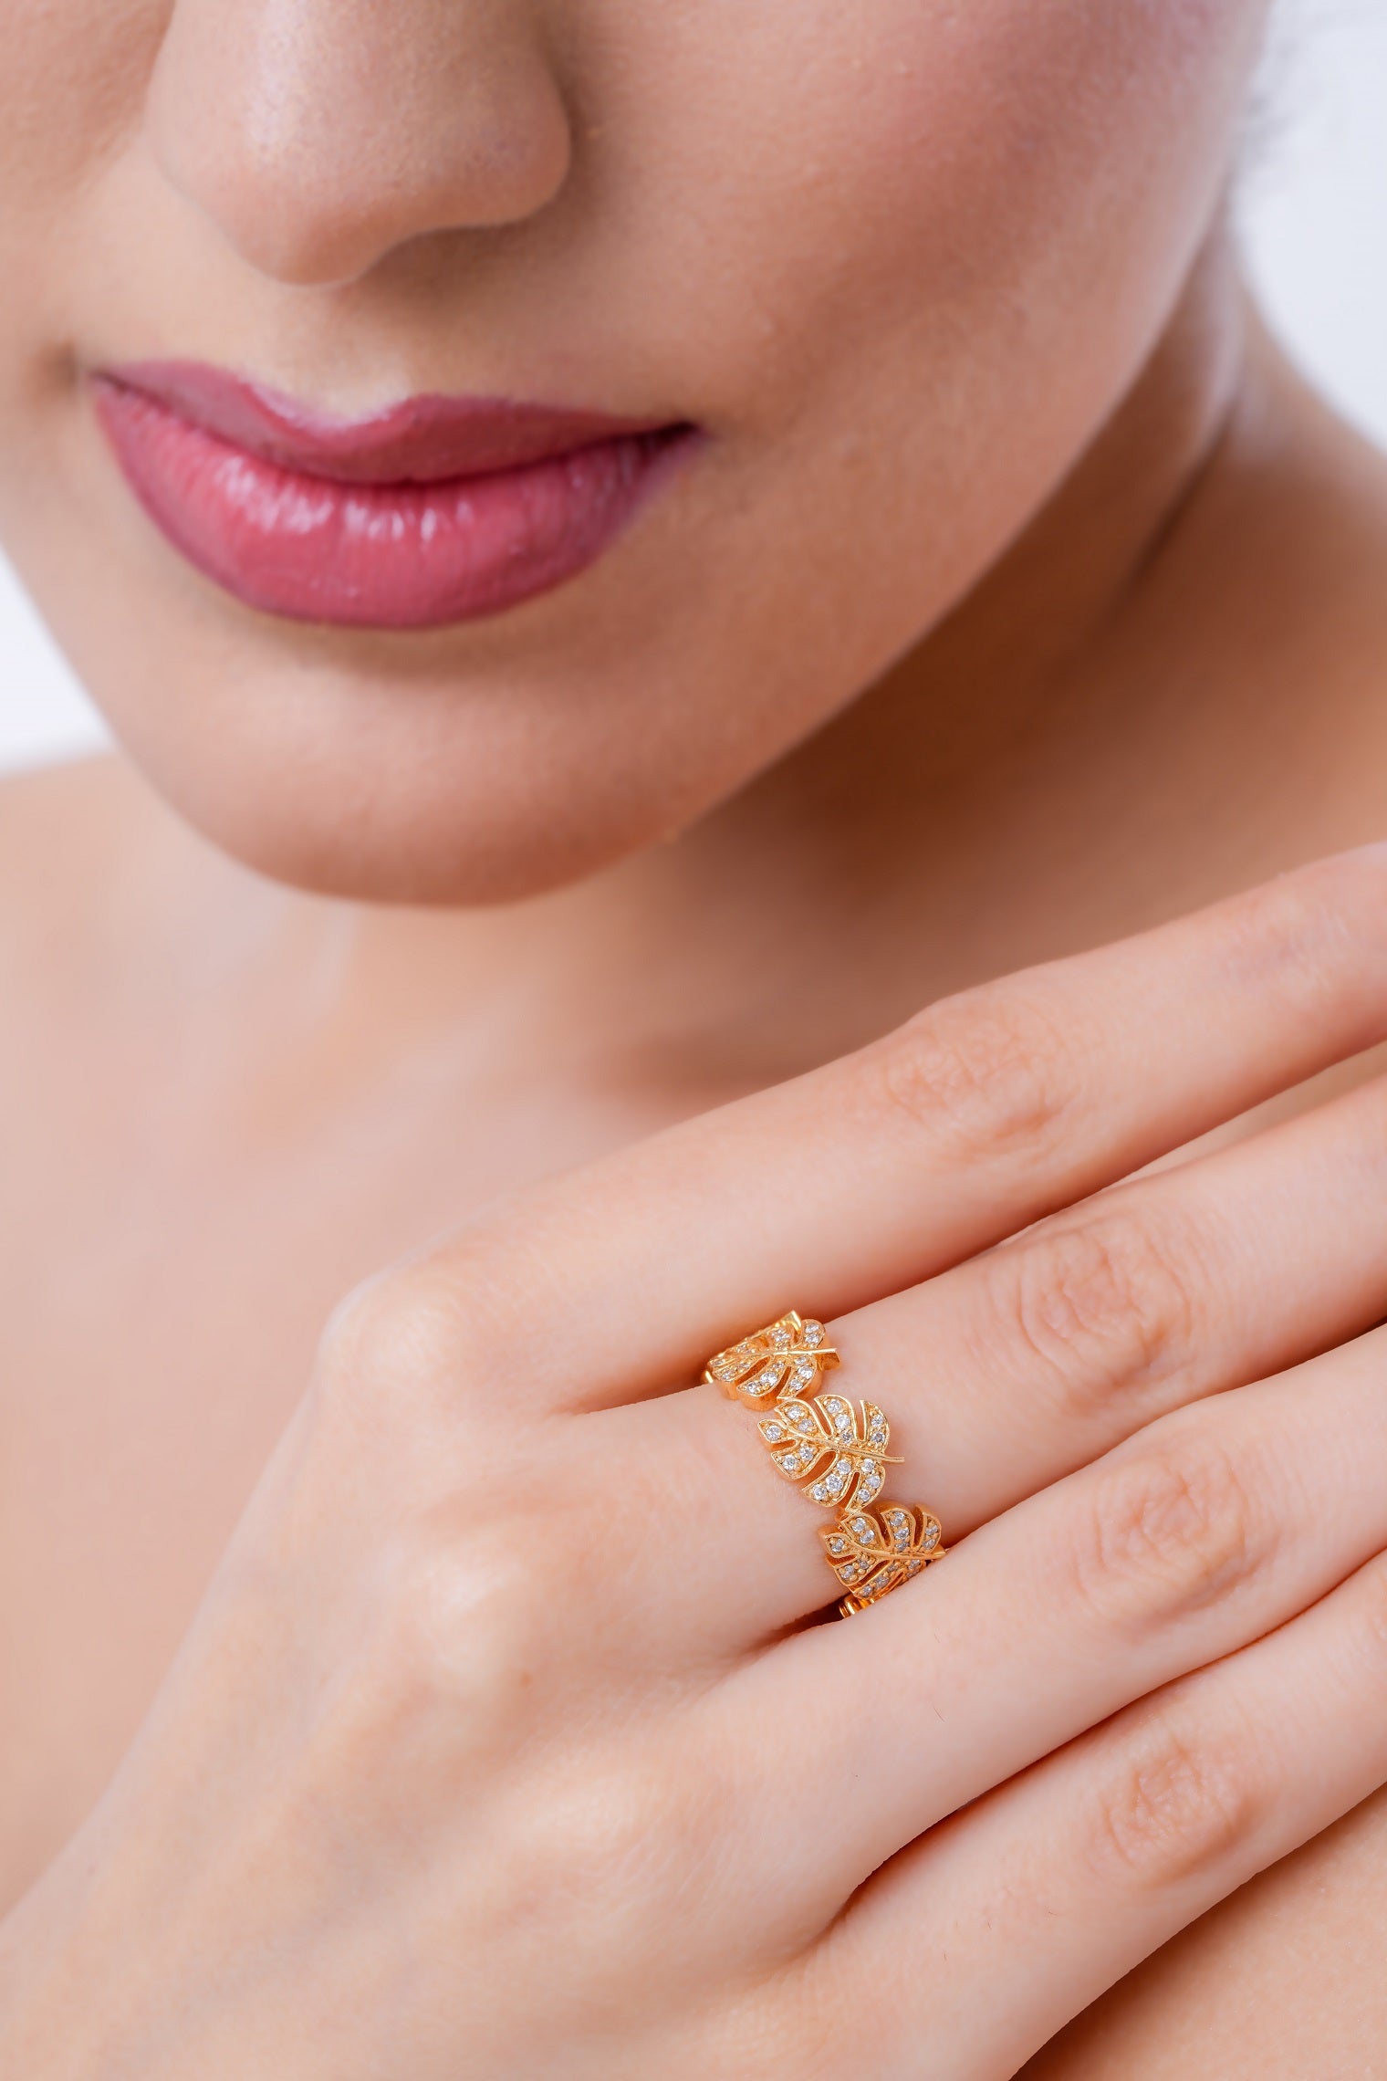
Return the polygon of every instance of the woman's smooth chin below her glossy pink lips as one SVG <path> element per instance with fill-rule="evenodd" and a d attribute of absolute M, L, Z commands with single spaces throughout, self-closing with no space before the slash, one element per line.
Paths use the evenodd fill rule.
<path fill-rule="evenodd" d="M 75 645 L 116 739 L 212 845 L 326 897 L 564 889 L 695 824 L 819 720 L 624 595 L 605 618 L 526 610 L 528 641 L 512 618 L 378 637 L 135 597 L 98 599 Z"/>

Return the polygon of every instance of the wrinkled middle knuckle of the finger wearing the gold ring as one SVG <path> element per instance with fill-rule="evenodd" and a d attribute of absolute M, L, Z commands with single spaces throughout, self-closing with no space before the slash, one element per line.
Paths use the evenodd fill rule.
<path fill-rule="evenodd" d="M 990 1265 L 996 1311 L 1075 1413 L 1110 1388 L 1171 1371 L 1194 1348 L 1198 1278 L 1173 1224 L 1156 1236 L 1133 1209 L 1115 1207 L 1013 1244 Z"/>

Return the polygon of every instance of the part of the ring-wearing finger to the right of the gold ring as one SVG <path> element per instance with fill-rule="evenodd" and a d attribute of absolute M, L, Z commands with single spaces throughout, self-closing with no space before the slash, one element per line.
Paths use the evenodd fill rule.
<path fill-rule="evenodd" d="M 950 1536 L 1387 1313 L 1387 1080 L 832 1324 Z M 902 1478 L 896 1480 L 902 1486 Z"/>

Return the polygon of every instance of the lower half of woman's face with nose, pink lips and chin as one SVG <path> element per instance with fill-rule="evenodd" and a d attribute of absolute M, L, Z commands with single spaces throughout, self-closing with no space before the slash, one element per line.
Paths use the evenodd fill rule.
<path fill-rule="evenodd" d="M 1208 229 L 1262 12 L 0 0 L 6 545 L 266 872 L 586 872 L 1046 499 Z"/>

